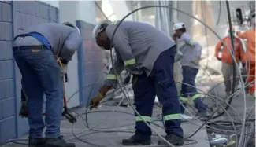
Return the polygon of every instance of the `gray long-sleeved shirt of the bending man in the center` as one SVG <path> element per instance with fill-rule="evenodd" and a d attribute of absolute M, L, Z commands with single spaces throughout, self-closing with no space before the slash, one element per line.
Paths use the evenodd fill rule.
<path fill-rule="evenodd" d="M 106 28 L 106 34 L 110 40 L 117 23 L 119 21 L 113 22 Z M 117 28 L 113 38 L 113 47 L 117 53 L 117 59 L 113 64 L 114 68 L 118 75 L 124 68 L 135 75 L 140 75 L 143 72 L 150 75 L 160 53 L 174 45 L 173 40 L 150 24 L 124 21 Z M 117 79 L 113 68 L 111 68 L 105 85 L 116 86 L 116 83 Z"/>

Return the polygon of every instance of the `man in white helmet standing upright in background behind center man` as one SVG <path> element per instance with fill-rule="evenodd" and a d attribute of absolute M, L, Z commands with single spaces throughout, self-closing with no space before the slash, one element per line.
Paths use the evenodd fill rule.
<path fill-rule="evenodd" d="M 195 39 L 186 33 L 184 23 L 176 23 L 173 25 L 177 37 L 177 47 L 179 49 L 175 57 L 175 62 L 180 61 L 182 66 L 183 81 L 180 91 L 181 112 L 187 105 L 188 97 L 191 97 L 198 109 L 198 114 L 202 117 L 209 116 L 208 108 L 203 104 L 200 95 L 195 88 L 195 77 L 198 74 L 199 61 L 202 54 L 202 46 Z"/>

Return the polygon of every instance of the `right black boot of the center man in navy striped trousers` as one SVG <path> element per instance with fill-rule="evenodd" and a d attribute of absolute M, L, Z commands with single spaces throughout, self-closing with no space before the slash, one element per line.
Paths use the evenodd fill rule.
<path fill-rule="evenodd" d="M 165 136 L 165 139 L 173 145 L 183 145 L 184 144 L 183 138 L 181 138 L 180 136 L 178 136 L 176 134 L 167 134 Z M 158 141 L 158 145 L 168 145 L 168 143 L 163 140 L 160 140 L 160 141 Z"/>

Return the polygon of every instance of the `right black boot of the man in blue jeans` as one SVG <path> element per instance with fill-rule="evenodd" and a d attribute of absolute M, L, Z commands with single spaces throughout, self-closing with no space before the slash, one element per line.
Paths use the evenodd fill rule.
<path fill-rule="evenodd" d="M 45 147 L 75 147 L 74 143 L 67 143 L 61 137 L 59 138 L 46 138 Z"/>

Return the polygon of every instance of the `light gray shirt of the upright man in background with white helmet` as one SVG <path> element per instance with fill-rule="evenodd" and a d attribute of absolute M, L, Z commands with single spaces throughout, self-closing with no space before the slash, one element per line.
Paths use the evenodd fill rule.
<path fill-rule="evenodd" d="M 181 66 L 199 68 L 198 61 L 202 55 L 202 46 L 195 39 L 191 39 L 190 35 L 184 33 L 180 39 L 177 39 L 177 48 L 183 54 L 180 60 Z"/>

